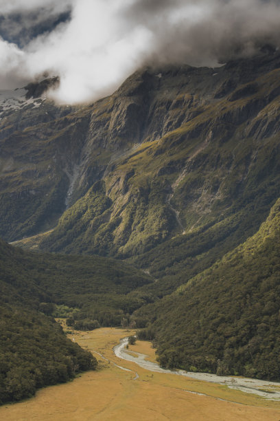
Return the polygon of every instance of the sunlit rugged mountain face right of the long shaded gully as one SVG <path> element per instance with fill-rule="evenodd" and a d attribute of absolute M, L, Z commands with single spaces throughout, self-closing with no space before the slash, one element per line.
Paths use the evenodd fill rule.
<path fill-rule="evenodd" d="M 214 70 L 148 69 L 95 103 L 73 193 L 82 197 L 40 248 L 148 252 L 147 267 L 150 250 L 174 236 L 200 243 L 223 226 L 237 246 L 252 235 L 280 195 L 279 65 L 272 54 Z M 99 157 L 113 146 L 100 180 Z"/>

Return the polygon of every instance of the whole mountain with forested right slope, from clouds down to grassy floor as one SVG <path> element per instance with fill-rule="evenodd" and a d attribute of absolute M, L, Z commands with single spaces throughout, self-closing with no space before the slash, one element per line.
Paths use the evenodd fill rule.
<path fill-rule="evenodd" d="M 0 236 L 36 250 L 10 261 L 13 296 L 144 327 L 162 365 L 279 379 L 279 76 L 269 50 L 140 69 L 89 105 L 11 102 Z"/>

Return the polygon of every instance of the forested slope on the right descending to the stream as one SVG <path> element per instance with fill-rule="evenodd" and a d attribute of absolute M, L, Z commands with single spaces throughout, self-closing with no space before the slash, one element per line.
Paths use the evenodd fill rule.
<path fill-rule="evenodd" d="M 244 244 L 137 312 L 166 367 L 280 380 L 280 199 Z"/>

